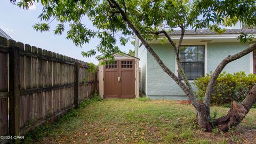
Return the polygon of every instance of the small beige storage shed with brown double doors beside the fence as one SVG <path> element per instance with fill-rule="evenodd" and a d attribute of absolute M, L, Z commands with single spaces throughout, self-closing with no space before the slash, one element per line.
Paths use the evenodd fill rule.
<path fill-rule="evenodd" d="M 115 61 L 100 65 L 99 94 L 102 98 L 139 98 L 139 59 L 131 55 L 113 54 Z"/>

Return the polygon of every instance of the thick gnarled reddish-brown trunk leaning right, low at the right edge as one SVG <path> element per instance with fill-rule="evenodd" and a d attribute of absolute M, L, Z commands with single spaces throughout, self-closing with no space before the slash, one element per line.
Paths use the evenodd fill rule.
<path fill-rule="evenodd" d="M 256 102 L 256 84 L 252 87 L 246 98 L 241 102 L 232 102 L 231 108 L 226 116 L 215 119 L 213 126 L 218 127 L 221 131 L 227 132 L 230 127 L 237 126 L 242 122 L 246 114 Z"/>

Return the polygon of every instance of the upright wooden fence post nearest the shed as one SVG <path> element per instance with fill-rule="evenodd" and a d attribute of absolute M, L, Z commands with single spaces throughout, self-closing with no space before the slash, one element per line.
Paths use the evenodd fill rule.
<path fill-rule="evenodd" d="M 76 68 L 75 68 L 75 107 L 78 108 L 79 106 L 79 69 L 80 69 L 80 63 L 76 61 Z"/>

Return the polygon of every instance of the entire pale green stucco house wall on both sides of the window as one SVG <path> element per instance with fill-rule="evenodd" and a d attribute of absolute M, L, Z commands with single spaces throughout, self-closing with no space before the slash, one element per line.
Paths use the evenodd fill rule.
<path fill-rule="evenodd" d="M 175 73 L 175 55 L 170 44 L 151 44 L 155 52 L 161 57 L 167 67 L 169 67 L 173 73 Z M 237 53 L 249 44 L 240 43 L 208 43 L 207 44 L 207 73 L 214 70 L 218 66 L 220 61 L 227 57 L 227 55 Z M 158 65 L 156 60 L 147 52 L 147 71 L 145 75 L 146 81 L 143 86 L 146 86 L 147 96 L 151 99 L 175 99 L 183 100 L 187 99 L 185 93 L 180 87 L 168 76 L 163 69 Z M 140 60 L 140 62 L 143 59 Z M 234 73 L 235 71 L 245 71 L 250 73 L 250 57 L 249 54 L 243 58 L 230 62 L 225 70 L 227 73 Z M 192 84 L 193 89 L 196 90 Z"/>

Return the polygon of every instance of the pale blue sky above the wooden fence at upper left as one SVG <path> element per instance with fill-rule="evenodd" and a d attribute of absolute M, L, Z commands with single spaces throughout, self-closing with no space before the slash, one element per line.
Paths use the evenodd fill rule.
<path fill-rule="evenodd" d="M 67 29 L 62 35 L 54 35 L 53 28 L 57 25 L 55 21 L 50 23 L 50 31 L 43 33 L 39 31 L 36 32 L 36 30 L 33 29 L 33 25 L 39 22 L 38 15 L 41 14 L 41 12 L 41 4 L 35 3 L 29 10 L 23 10 L 11 4 L 9 0 L 1 0 L 0 28 L 17 42 L 40 47 L 41 49 L 63 54 L 85 62 L 98 64 L 98 60 L 96 60 L 95 57 L 85 58 L 81 55 L 82 51 L 94 49 L 95 46 L 99 44 L 98 38 L 91 39 L 89 44 L 85 44 L 82 47 L 76 47 L 72 41 L 66 39 Z M 86 26 L 91 29 L 96 29 L 91 22 L 87 23 Z M 129 49 L 134 50 L 134 46 L 130 42 L 125 46 L 121 46 L 117 41 L 116 45 L 119 46 L 121 51 L 128 52 Z"/>

